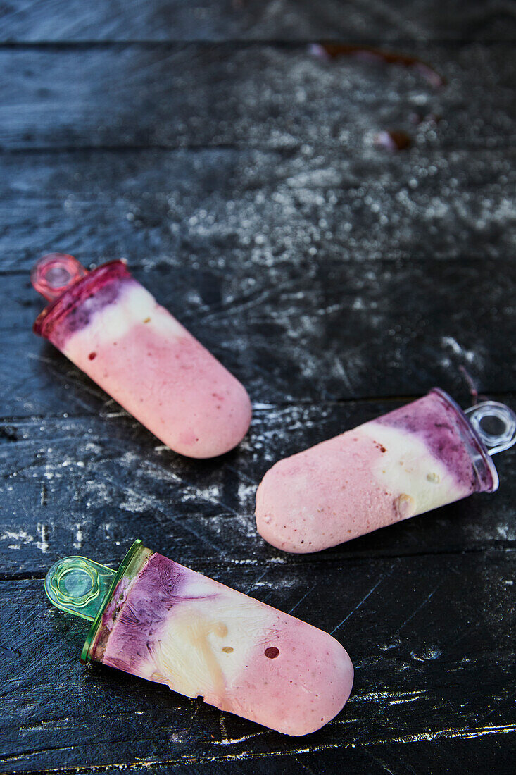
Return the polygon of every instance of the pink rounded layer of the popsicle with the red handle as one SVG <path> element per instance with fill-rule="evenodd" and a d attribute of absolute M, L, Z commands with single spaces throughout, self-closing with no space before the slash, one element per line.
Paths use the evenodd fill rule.
<path fill-rule="evenodd" d="M 169 339 L 138 322 L 116 342 L 91 342 L 93 360 L 80 348 L 71 360 L 170 449 L 214 457 L 245 436 L 246 390 L 186 329 Z"/>

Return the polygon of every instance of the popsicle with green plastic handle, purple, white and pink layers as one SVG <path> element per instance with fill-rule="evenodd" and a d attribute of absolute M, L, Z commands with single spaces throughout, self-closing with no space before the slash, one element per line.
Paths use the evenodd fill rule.
<path fill-rule="evenodd" d="M 90 621 L 82 660 L 167 684 L 287 735 L 339 713 L 353 665 L 332 636 L 136 541 L 118 572 L 66 557 L 46 574 L 57 608 Z"/>

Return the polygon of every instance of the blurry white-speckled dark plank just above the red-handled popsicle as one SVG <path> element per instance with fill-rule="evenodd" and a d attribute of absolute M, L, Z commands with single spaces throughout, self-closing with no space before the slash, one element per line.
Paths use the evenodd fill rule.
<path fill-rule="evenodd" d="M 208 288 L 259 298 L 289 266 L 298 282 L 319 271 L 324 284 L 324 267 L 349 260 L 505 261 L 514 158 L 440 146 L 5 154 L 0 270 L 29 271 L 50 250 L 84 263 L 126 256 L 189 274 L 213 305 Z"/>

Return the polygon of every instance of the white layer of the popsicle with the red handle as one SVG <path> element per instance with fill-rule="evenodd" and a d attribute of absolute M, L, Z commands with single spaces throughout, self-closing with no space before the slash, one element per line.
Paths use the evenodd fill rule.
<path fill-rule="evenodd" d="M 88 301 L 83 303 L 88 305 Z M 81 363 L 91 351 L 91 346 L 117 342 L 139 324 L 153 329 L 160 336 L 173 339 L 185 334 L 181 323 L 160 307 L 143 285 L 132 281 L 121 288 L 115 301 L 92 312 L 88 324 L 67 339 L 63 352 L 74 363 Z"/>

